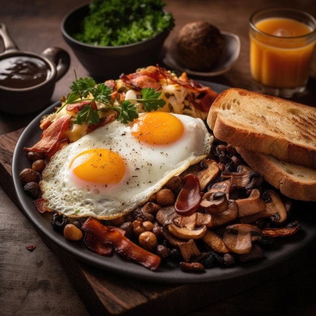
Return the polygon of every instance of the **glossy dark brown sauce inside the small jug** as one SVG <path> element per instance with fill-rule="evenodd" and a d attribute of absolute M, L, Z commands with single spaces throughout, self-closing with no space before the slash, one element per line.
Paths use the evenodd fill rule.
<path fill-rule="evenodd" d="M 15 56 L 0 60 L 0 85 L 9 88 L 28 88 L 49 78 L 50 70 L 39 58 Z"/>

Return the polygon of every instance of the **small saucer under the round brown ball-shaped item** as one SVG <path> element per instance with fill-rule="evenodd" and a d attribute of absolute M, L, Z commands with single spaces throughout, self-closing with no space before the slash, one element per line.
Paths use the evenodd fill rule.
<path fill-rule="evenodd" d="M 226 40 L 226 52 L 225 52 L 225 55 L 219 60 L 215 68 L 212 69 L 211 71 L 201 72 L 201 71 L 190 70 L 184 67 L 183 65 L 181 65 L 179 62 L 177 62 L 178 58 L 177 58 L 175 41 L 173 41 L 171 47 L 167 51 L 166 56 L 164 58 L 164 63 L 168 67 L 174 70 L 186 72 L 188 75 L 209 77 L 209 76 L 218 76 L 227 72 L 233 66 L 233 64 L 237 61 L 239 57 L 240 39 L 236 34 L 233 34 L 230 32 L 221 31 L 221 34 L 224 36 Z"/>

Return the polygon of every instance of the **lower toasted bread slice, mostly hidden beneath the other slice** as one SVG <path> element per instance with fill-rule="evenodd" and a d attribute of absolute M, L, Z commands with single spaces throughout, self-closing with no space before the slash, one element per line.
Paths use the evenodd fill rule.
<path fill-rule="evenodd" d="M 236 147 L 237 152 L 254 171 L 293 199 L 316 201 L 316 169 L 286 163 L 274 157 Z"/>

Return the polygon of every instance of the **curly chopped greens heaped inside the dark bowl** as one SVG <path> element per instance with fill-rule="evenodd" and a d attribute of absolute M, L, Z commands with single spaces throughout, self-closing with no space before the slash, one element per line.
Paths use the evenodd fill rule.
<path fill-rule="evenodd" d="M 165 14 L 161 0 L 93 0 L 78 41 L 96 46 L 118 46 L 153 38 L 172 30 L 174 17 Z"/>

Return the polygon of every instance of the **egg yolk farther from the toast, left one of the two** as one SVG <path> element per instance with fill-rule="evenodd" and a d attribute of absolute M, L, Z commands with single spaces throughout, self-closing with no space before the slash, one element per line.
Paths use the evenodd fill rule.
<path fill-rule="evenodd" d="M 124 177 L 125 163 L 118 153 L 95 148 L 79 153 L 71 162 L 69 169 L 84 181 L 115 184 Z"/>

